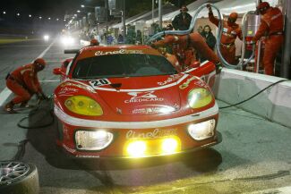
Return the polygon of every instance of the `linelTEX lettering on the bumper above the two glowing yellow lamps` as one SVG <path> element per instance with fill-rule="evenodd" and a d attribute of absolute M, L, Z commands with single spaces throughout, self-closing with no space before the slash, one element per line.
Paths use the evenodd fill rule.
<path fill-rule="evenodd" d="M 155 129 L 149 132 L 139 132 L 139 131 L 127 131 L 126 139 L 156 139 L 169 136 L 175 136 L 177 134 L 177 129 L 160 130 Z"/>

